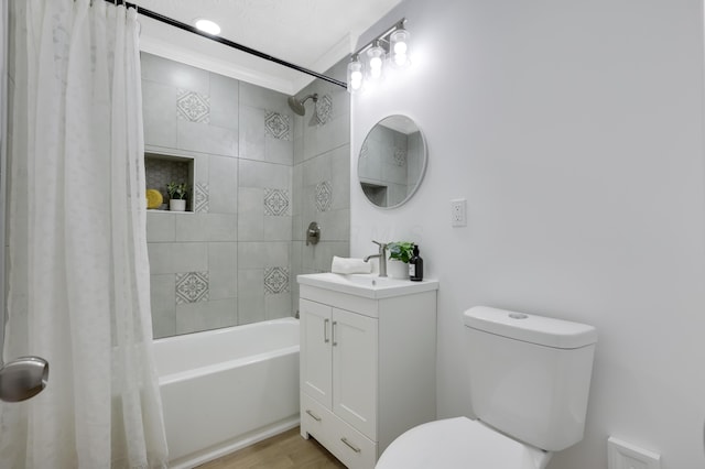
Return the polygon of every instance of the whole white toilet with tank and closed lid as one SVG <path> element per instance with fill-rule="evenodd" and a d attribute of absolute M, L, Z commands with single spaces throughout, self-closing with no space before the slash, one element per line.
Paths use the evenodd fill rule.
<path fill-rule="evenodd" d="M 487 306 L 468 309 L 464 321 L 477 418 L 411 428 L 376 469 L 543 469 L 583 439 L 593 326 Z"/>

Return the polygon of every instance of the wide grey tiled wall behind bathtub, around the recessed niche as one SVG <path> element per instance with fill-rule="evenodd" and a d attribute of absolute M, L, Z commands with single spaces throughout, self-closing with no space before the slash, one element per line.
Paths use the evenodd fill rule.
<path fill-rule="evenodd" d="M 286 96 L 142 54 L 145 150 L 194 159 L 194 212 L 148 212 L 154 337 L 292 315 Z"/>

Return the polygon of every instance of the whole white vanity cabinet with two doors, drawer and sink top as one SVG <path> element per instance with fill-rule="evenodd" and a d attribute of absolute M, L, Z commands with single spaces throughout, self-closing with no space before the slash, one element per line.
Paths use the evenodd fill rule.
<path fill-rule="evenodd" d="M 371 469 L 395 437 L 435 419 L 437 282 L 330 283 L 351 277 L 299 276 L 301 434 Z"/>

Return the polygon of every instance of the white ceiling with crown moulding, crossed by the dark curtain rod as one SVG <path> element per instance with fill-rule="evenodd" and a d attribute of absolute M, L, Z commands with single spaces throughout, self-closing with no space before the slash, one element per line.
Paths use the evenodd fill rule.
<path fill-rule="evenodd" d="M 183 23 L 217 22 L 220 36 L 273 57 L 325 73 L 351 53 L 358 36 L 401 0 L 137 0 Z M 139 11 L 139 9 L 138 9 Z M 294 95 L 313 77 L 140 18 L 143 51 Z"/>

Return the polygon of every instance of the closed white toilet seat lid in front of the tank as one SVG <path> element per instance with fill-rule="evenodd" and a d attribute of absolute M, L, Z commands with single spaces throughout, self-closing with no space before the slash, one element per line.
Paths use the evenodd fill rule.
<path fill-rule="evenodd" d="M 376 469 L 541 469 L 551 454 L 467 417 L 411 428 L 384 450 Z"/>

